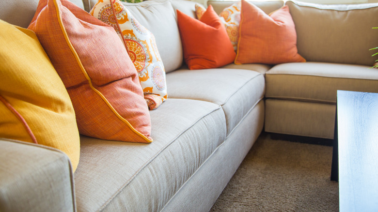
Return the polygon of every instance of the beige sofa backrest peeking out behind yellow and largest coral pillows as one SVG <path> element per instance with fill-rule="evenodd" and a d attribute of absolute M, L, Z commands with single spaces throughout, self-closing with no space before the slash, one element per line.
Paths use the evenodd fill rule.
<path fill-rule="evenodd" d="M 70 0 L 84 9 L 87 0 Z M 10 24 L 28 28 L 39 0 L 0 0 L 0 19 Z"/>

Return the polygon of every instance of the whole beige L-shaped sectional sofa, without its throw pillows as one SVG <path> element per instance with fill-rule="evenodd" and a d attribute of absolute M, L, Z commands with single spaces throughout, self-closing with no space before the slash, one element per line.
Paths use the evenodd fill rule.
<path fill-rule="evenodd" d="M 89 11 L 96 0 L 71 0 Z M 0 19 L 28 27 L 38 0 L 0 1 Z M 209 1 L 219 13 L 232 1 Z M 286 2 L 306 63 L 183 65 L 175 10 L 195 2 L 125 3 L 156 37 L 168 99 L 150 111 L 150 144 L 80 136 L 75 173 L 61 151 L 0 139 L 0 211 L 208 211 L 265 131 L 332 138 L 336 90 L 378 92 L 368 51 L 378 5 Z M 284 1 L 255 2 L 267 14 Z M 366 9 L 367 8 L 367 9 Z M 253 181 L 253 179 L 251 179 Z"/>

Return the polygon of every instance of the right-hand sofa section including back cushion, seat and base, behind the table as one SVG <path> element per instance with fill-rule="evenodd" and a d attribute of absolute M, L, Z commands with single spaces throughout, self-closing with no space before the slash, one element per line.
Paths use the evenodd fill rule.
<path fill-rule="evenodd" d="M 265 131 L 333 138 L 336 91 L 378 92 L 369 51 L 377 45 L 377 4 L 320 5 L 287 1 L 307 62 L 266 73 Z"/>

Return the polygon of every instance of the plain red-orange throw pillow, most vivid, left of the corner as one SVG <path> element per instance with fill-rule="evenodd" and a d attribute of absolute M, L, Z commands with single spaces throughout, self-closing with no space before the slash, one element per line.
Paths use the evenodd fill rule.
<path fill-rule="evenodd" d="M 177 10 L 177 22 L 189 69 L 218 68 L 234 61 L 234 47 L 211 5 L 200 20 Z"/>

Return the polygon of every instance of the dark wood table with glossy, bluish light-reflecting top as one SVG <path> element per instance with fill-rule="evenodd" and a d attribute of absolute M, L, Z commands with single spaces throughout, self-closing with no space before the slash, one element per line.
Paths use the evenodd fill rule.
<path fill-rule="evenodd" d="M 335 122 L 340 212 L 378 212 L 378 93 L 337 91 Z"/>

